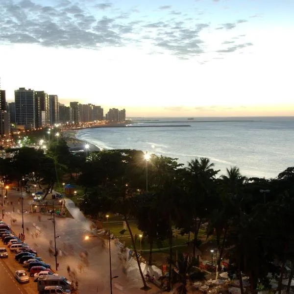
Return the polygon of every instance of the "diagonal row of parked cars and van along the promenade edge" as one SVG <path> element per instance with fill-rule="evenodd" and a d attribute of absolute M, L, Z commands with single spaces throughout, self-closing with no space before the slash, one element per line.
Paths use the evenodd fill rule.
<path fill-rule="evenodd" d="M 19 283 L 28 283 L 30 277 L 37 282 L 40 294 L 70 294 L 72 283 L 65 277 L 59 276 L 51 270 L 51 266 L 37 256 L 37 251 L 30 248 L 14 234 L 11 227 L 0 221 L 0 238 L 6 247 L 0 247 L 0 258 L 7 258 L 8 251 L 16 253 L 15 260 L 23 266 L 23 270 L 15 272 L 15 278 Z"/>

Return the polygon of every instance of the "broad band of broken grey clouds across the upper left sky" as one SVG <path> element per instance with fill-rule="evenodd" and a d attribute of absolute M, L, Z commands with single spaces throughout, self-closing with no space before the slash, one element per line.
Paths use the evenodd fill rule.
<path fill-rule="evenodd" d="M 59 0 L 55 6 L 49 6 L 45 1 L 38 1 L 43 5 L 34 1 L 0 0 L 0 44 L 25 43 L 75 49 L 125 47 L 130 44 L 141 48 L 148 44 L 151 54 L 168 53 L 179 59 L 208 52 L 202 32 L 209 31 L 210 24 L 197 23 L 181 11 L 167 11 L 166 17 L 148 21 L 148 18 L 138 15 L 137 6 L 123 11 L 106 0 L 96 4 L 90 0 Z M 167 10 L 171 7 L 159 8 Z M 94 12 L 93 8 L 96 8 Z M 97 9 L 102 11 L 96 13 Z M 107 10 L 107 16 L 104 10 Z M 235 26 L 235 23 L 225 23 L 221 28 L 232 29 Z M 223 44 L 230 44 L 226 42 Z M 232 50 L 236 47 L 223 49 L 223 52 Z"/>

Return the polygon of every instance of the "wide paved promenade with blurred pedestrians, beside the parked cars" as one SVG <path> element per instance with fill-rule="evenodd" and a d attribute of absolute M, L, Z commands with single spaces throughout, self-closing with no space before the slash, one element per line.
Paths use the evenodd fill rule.
<path fill-rule="evenodd" d="M 28 201 L 31 200 L 31 197 L 26 193 L 23 193 L 23 195 L 24 210 L 27 209 L 29 211 Z M 16 233 L 22 231 L 21 204 L 18 204 L 19 197 L 20 192 L 9 191 L 8 201 L 12 201 L 13 205 L 7 205 L 6 203 L 4 206 L 4 221 L 11 223 L 12 218 L 17 220 L 15 223 L 12 223 L 12 228 Z M 14 213 L 13 206 L 15 210 Z M 69 277 L 67 272 L 67 266 L 70 266 L 71 270 L 75 273 L 76 280 L 78 280 L 78 293 L 109 294 L 109 249 L 107 243 L 104 245 L 103 240 L 100 238 L 90 238 L 87 241 L 84 240 L 86 235 L 93 235 L 93 232 L 90 230 L 90 222 L 84 218 L 79 209 L 74 207 L 71 200 L 67 200 L 66 206 L 73 215 L 73 218 L 55 218 L 56 236 L 61 236 L 61 238 L 56 239 L 56 245 L 58 249 L 61 250 L 61 256 L 58 256 L 59 268 L 57 273 L 72 280 L 73 276 Z M 38 216 L 41 216 L 41 221 L 38 220 Z M 49 219 L 49 215 L 25 213 L 25 242 L 36 249 L 38 255 L 48 262 L 51 268 L 55 270 L 55 258 L 49 254 L 50 241 L 54 244 L 53 223 Z M 32 233 L 36 232 L 36 226 L 38 226 L 41 231 L 37 239 L 35 235 L 32 235 Z M 80 253 L 84 250 L 86 250 L 89 255 L 89 263 L 87 265 L 85 265 L 80 257 Z M 59 250 L 58 252 L 60 253 Z M 130 263 L 136 266 L 135 260 L 124 263 L 122 259 L 119 258 L 120 250 L 114 245 L 113 241 L 111 244 L 111 253 L 112 276 L 118 275 L 118 278 L 113 279 L 112 282 L 113 294 L 137 294 L 143 292 L 140 290 L 143 284 L 140 280 L 139 270 L 137 270 L 137 267 L 134 269 L 129 266 Z M 161 293 L 154 285 L 149 286 L 151 290 L 145 293 Z"/>

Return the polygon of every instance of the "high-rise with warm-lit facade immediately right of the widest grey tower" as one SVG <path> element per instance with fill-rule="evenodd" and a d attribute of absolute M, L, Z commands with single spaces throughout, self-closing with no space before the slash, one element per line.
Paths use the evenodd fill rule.
<path fill-rule="evenodd" d="M 49 97 L 45 91 L 35 91 L 35 109 L 37 126 L 49 126 Z"/>

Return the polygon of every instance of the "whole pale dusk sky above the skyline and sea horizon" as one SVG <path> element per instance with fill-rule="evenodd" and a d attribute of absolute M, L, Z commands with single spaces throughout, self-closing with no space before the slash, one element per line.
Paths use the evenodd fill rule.
<path fill-rule="evenodd" d="M 0 0 L 6 99 L 127 117 L 292 116 L 293 0 Z"/>

